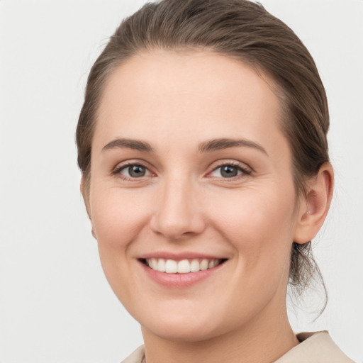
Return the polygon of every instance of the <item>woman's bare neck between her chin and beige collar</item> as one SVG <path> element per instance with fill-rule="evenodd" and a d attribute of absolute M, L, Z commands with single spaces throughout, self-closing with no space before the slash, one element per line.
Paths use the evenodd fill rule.
<path fill-rule="evenodd" d="M 146 363 L 269 363 L 298 345 L 284 312 L 260 315 L 232 332 L 197 342 L 170 341 L 143 327 Z"/>

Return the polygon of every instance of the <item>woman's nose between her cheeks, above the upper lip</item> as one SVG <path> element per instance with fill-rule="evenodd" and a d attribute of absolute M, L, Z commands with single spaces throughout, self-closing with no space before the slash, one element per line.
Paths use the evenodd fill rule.
<path fill-rule="evenodd" d="M 150 219 L 153 232 L 172 241 L 183 240 L 203 232 L 206 227 L 201 195 L 191 181 L 170 179 L 160 185 L 154 213 Z"/>

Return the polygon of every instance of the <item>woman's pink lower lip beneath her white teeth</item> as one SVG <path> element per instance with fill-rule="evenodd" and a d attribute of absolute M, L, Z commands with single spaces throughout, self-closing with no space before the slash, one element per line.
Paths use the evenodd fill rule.
<path fill-rule="evenodd" d="M 213 267 L 212 269 L 206 269 L 199 272 L 189 272 L 187 274 L 167 274 L 166 272 L 155 271 L 155 269 L 147 267 L 145 264 L 143 264 L 143 262 L 140 262 L 140 264 L 150 279 L 162 286 L 180 289 L 192 286 L 207 279 L 208 277 L 211 277 L 223 267 L 225 262 L 218 264 L 218 266 Z"/>

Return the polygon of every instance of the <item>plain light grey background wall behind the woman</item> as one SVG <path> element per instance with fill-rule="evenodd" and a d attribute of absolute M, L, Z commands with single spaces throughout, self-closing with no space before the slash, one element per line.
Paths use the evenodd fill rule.
<path fill-rule="evenodd" d="M 86 76 L 143 0 L 0 1 L 0 362 L 120 362 L 142 343 L 101 271 L 76 164 Z M 330 301 L 291 309 L 363 362 L 363 1 L 262 0 L 306 43 L 325 82 L 336 188 L 315 241 Z M 318 294 L 316 295 L 318 296 Z M 318 297 L 306 300 L 309 310 Z"/>

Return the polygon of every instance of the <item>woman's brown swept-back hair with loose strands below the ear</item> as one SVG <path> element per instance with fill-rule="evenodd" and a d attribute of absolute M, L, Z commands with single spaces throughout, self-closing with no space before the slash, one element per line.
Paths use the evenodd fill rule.
<path fill-rule="evenodd" d="M 78 164 L 86 191 L 91 142 L 105 83 L 122 62 L 155 48 L 211 50 L 274 79 L 284 111 L 281 129 L 293 155 L 296 194 L 306 194 L 306 179 L 329 161 L 325 89 L 313 58 L 295 33 L 262 5 L 247 0 L 162 0 L 145 4 L 125 18 L 91 68 L 79 116 Z M 289 277 L 298 294 L 312 277 L 323 284 L 310 241 L 294 242 Z"/>

